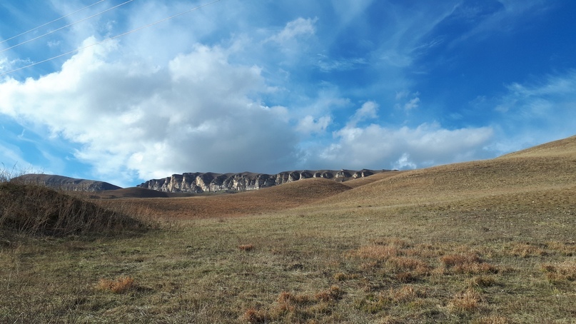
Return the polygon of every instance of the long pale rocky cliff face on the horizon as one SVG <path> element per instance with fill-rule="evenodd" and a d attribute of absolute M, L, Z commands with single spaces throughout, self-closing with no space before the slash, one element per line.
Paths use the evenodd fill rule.
<path fill-rule="evenodd" d="M 162 179 L 152 179 L 138 187 L 169 193 L 203 193 L 211 191 L 258 190 L 306 178 L 327 178 L 334 181 L 347 181 L 371 176 L 383 171 L 374 170 L 320 170 L 286 171 L 278 174 L 266 173 L 183 173 L 173 174 Z"/>

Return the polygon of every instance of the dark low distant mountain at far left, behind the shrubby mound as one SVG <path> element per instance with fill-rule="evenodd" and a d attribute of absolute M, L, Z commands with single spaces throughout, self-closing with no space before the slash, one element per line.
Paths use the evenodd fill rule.
<path fill-rule="evenodd" d="M 64 191 L 104 191 L 121 189 L 121 187 L 103 181 L 76 179 L 49 174 L 24 174 L 23 176 L 12 178 L 11 182 L 46 186 Z"/>

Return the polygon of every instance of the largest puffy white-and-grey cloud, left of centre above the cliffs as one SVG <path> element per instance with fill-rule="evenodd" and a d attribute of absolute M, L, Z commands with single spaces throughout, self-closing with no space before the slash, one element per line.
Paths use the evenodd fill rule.
<path fill-rule="evenodd" d="M 76 158 L 101 176 L 274 172 L 296 154 L 284 111 L 251 98 L 266 91 L 257 66 L 230 64 L 223 49 L 197 44 L 158 68 L 109 60 L 115 47 L 81 51 L 37 80 L 1 83 L 0 113 L 80 143 Z"/>

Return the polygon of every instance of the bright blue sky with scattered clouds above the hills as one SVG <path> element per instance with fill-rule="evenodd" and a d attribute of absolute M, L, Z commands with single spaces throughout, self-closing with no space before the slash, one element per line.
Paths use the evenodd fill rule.
<path fill-rule="evenodd" d="M 124 2 L 0 4 L 5 168 L 134 186 L 425 168 L 576 133 L 572 0 Z"/>

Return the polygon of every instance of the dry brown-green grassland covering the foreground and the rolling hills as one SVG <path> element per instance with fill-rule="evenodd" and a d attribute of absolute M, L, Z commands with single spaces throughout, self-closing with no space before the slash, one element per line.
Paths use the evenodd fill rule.
<path fill-rule="evenodd" d="M 575 193 L 573 136 L 344 183 L 84 198 L 148 228 L 0 221 L 0 323 L 576 323 Z"/>

